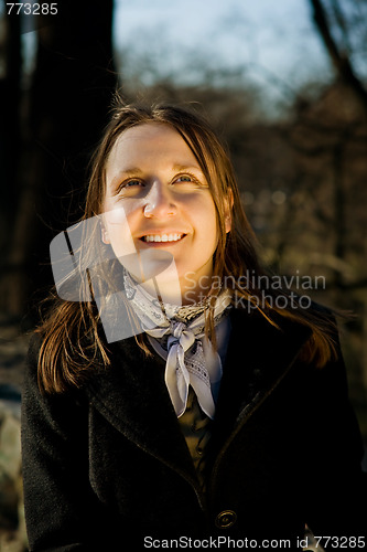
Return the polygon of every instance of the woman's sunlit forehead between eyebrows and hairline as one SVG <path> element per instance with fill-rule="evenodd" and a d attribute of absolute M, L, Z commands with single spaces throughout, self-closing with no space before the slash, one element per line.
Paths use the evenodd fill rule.
<path fill-rule="evenodd" d="M 125 164 L 134 167 L 165 160 L 198 164 L 175 128 L 163 123 L 143 123 L 121 132 L 108 156 L 106 169 L 109 172 Z"/>

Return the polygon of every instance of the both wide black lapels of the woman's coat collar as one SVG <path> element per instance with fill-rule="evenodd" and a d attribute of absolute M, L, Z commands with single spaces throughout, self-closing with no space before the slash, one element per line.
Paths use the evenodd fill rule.
<path fill-rule="evenodd" d="M 216 410 L 224 434 L 236 432 L 249 405 L 273 389 L 310 331 L 280 317 L 280 329 L 261 315 L 233 309 L 231 335 Z M 181 473 L 196 474 L 164 383 L 164 361 L 147 358 L 134 338 L 109 346 L 111 365 L 96 371 L 86 391 L 94 406 L 128 439 Z M 229 424 L 229 426 L 228 426 Z"/>

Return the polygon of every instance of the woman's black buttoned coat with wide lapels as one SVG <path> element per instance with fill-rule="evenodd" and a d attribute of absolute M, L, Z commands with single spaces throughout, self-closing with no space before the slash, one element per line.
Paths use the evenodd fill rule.
<path fill-rule="evenodd" d="M 305 523 L 316 535 L 361 534 L 363 447 L 342 355 L 315 369 L 298 359 L 304 327 L 283 320 L 280 331 L 237 309 L 231 323 L 205 496 L 162 359 L 127 339 L 109 346 L 111 367 L 82 390 L 43 397 L 34 340 L 22 401 L 32 551 L 208 535 L 289 539 L 295 550 Z"/>

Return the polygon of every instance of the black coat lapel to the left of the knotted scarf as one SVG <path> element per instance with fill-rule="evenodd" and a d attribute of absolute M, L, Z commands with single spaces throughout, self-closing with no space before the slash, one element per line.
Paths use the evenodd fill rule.
<path fill-rule="evenodd" d="M 195 468 L 164 382 L 164 361 L 147 357 L 134 338 L 109 349 L 111 365 L 98 370 L 87 385 L 90 402 L 128 439 L 195 485 Z"/>

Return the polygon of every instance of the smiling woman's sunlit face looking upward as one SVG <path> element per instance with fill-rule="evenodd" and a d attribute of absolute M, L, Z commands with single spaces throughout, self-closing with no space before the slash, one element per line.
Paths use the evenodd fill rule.
<path fill-rule="evenodd" d="M 145 123 L 120 135 L 106 164 L 104 212 L 102 240 L 116 256 L 169 252 L 183 302 L 203 298 L 199 282 L 205 276 L 208 286 L 218 241 L 216 210 L 198 162 L 174 128 Z"/>

